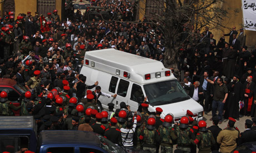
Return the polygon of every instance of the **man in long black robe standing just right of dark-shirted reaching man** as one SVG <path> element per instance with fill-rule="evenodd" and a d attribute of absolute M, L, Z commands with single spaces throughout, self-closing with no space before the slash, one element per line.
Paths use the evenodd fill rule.
<path fill-rule="evenodd" d="M 239 76 L 234 75 L 233 82 L 229 84 L 228 106 L 226 110 L 227 117 L 233 117 L 239 120 L 239 101 L 243 100 L 243 84 L 239 82 Z M 225 116 L 226 116 L 225 115 Z"/>

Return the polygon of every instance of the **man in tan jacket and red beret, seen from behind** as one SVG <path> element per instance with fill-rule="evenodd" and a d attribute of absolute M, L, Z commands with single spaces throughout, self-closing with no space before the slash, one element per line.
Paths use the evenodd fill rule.
<path fill-rule="evenodd" d="M 219 132 L 217 143 L 222 153 L 229 153 L 237 147 L 239 131 L 234 128 L 235 122 L 235 119 L 229 117 L 228 127 Z"/>

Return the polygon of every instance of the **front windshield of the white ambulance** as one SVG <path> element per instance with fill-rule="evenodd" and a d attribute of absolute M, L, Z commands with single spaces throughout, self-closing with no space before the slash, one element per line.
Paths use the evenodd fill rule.
<path fill-rule="evenodd" d="M 149 101 L 152 106 L 165 105 L 190 99 L 177 80 L 144 85 L 144 90 L 147 96 L 147 101 Z"/>

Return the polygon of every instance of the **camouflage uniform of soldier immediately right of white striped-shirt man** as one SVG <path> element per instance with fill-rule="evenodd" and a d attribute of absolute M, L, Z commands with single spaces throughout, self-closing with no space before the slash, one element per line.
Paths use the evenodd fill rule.
<path fill-rule="evenodd" d="M 160 142 L 159 132 L 156 129 L 149 130 L 147 127 L 141 132 L 140 140 L 143 141 L 143 150 L 156 152 L 156 144 Z"/>

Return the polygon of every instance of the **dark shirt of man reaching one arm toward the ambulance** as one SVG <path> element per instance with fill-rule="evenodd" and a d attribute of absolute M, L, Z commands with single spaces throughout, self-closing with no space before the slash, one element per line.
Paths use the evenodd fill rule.
<path fill-rule="evenodd" d="M 222 102 L 226 93 L 228 93 L 228 88 L 224 83 L 221 86 L 217 82 L 214 83 L 213 100 Z"/>

